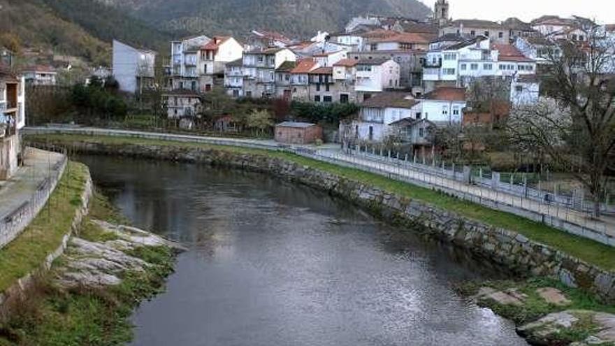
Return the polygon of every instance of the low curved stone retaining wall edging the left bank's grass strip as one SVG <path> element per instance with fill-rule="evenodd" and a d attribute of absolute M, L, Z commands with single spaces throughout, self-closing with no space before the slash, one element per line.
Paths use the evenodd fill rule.
<path fill-rule="evenodd" d="M 81 221 L 85 215 L 89 212 L 88 204 L 89 199 L 93 194 L 93 184 L 92 177 L 89 175 L 89 171 L 87 172 L 87 179 L 85 180 L 85 186 L 83 187 L 83 192 L 80 198 L 80 206 L 77 210 L 75 210 L 75 215 L 73 216 L 73 222 L 71 223 L 71 229 L 66 230 L 66 234 L 62 237 L 60 245 L 57 249 L 47 257 L 45 257 L 45 261 L 41 264 L 39 268 L 24 275 L 20 279 L 15 282 L 11 287 L 6 289 L 3 292 L 0 292 L 0 319 L 4 319 L 6 317 L 5 303 L 13 300 L 13 298 L 17 298 L 21 296 L 24 291 L 26 291 L 31 284 L 34 283 L 34 280 L 38 275 L 41 275 L 50 270 L 51 265 L 55 259 L 64 254 L 64 250 L 66 250 L 66 246 L 68 245 L 68 240 L 71 238 L 73 232 L 78 230 L 78 227 L 81 224 Z"/>

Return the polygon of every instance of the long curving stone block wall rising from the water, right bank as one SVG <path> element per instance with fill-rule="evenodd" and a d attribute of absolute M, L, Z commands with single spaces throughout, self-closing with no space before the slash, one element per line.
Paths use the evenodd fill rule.
<path fill-rule="evenodd" d="M 71 143 L 71 150 L 86 154 L 120 155 L 164 159 L 240 168 L 323 189 L 335 196 L 365 206 L 389 222 L 412 229 L 469 250 L 519 274 L 558 277 L 573 287 L 592 291 L 608 303 L 615 303 L 615 273 L 604 271 L 563 252 L 529 240 L 506 229 L 498 229 L 421 201 L 396 196 L 359 181 L 259 154 L 243 154 L 210 148 L 172 145 L 113 145 Z"/>

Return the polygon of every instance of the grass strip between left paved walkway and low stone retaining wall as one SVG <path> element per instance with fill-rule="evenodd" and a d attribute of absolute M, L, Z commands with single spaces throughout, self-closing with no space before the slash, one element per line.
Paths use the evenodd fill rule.
<path fill-rule="evenodd" d="M 47 204 L 26 229 L 0 250 L 0 291 L 41 267 L 71 230 L 88 175 L 87 167 L 68 162 Z"/>

